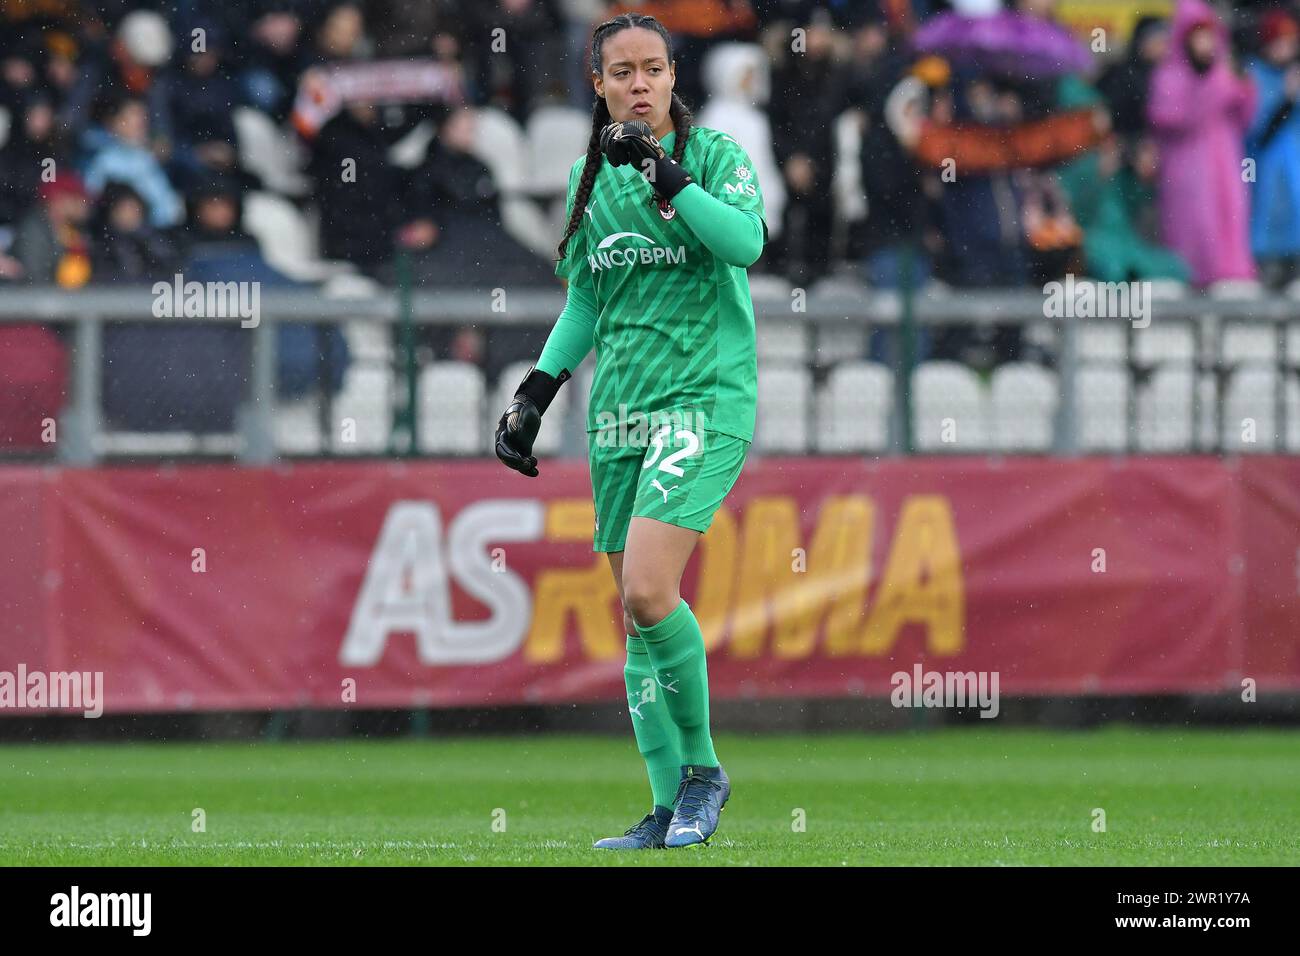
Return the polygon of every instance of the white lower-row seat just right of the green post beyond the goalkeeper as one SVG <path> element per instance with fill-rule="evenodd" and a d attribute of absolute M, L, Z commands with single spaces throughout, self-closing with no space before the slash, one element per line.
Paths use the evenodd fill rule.
<path fill-rule="evenodd" d="M 911 405 L 913 444 L 918 450 L 976 451 L 989 446 L 988 395 L 979 376 L 966 365 L 957 362 L 916 365 Z"/>

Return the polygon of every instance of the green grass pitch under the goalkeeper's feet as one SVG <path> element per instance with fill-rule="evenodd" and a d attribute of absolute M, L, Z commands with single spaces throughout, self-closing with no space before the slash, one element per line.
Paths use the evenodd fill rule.
<path fill-rule="evenodd" d="M 712 843 L 616 853 L 592 840 L 649 809 L 630 732 L 6 745 L 0 865 L 1300 864 L 1296 731 L 950 728 L 716 747 L 732 799 Z M 205 832 L 192 832 L 196 808 Z"/>

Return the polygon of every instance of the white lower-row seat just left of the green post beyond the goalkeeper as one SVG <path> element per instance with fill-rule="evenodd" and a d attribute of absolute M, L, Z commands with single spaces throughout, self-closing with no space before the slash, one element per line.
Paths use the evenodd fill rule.
<path fill-rule="evenodd" d="M 841 362 L 816 395 L 818 451 L 883 451 L 889 447 L 893 372 L 879 362 Z"/>

